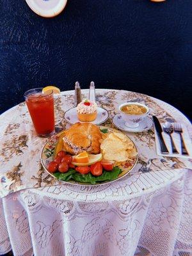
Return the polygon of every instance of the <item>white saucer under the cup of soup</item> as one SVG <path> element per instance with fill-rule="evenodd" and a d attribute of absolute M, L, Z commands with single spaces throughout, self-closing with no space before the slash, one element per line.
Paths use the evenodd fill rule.
<path fill-rule="evenodd" d="M 153 121 L 150 117 L 146 116 L 143 118 L 143 121 L 140 122 L 140 125 L 136 128 L 127 127 L 125 121 L 123 120 L 120 114 L 117 114 L 113 117 L 113 124 L 116 128 L 125 131 L 125 132 L 143 132 L 152 129 Z"/>

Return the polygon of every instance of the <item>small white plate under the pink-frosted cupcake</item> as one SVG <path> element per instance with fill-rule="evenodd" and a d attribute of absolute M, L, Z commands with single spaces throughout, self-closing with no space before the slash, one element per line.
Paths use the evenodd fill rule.
<path fill-rule="evenodd" d="M 109 114 L 108 111 L 104 108 L 97 108 L 97 118 L 93 121 L 90 122 L 92 124 L 102 124 L 108 120 Z M 69 124 L 76 124 L 77 122 L 82 123 L 79 121 L 77 118 L 77 108 L 70 108 L 65 112 L 64 119 L 69 123 Z"/>

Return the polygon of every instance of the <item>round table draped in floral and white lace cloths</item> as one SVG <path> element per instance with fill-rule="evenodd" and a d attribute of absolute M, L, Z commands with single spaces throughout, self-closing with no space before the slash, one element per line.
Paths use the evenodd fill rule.
<path fill-rule="evenodd" d="M 82 90 L 87 97 L 88 90 Z M 74 104 L 74 91 L 56 102 L 56 131 Z M 144 102 L 160 120 L 189 120 L 161 100 L 124 90 L 96 90 L 111 127 L 117 106 Z M 22 102 L 0 116 L 0 254 L 15 256 L 191 255 L 191 171 L 156 155 L 154 131 L 128 132 L 139 149 L 130 175 L 102 186 L 56 182 L 40 166 L 46 139 L 37 138 Z M 113 126 L 113 125 L 112 125 Z"/>

